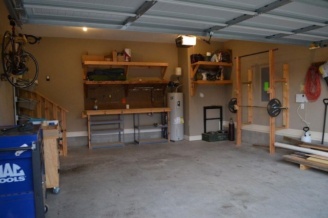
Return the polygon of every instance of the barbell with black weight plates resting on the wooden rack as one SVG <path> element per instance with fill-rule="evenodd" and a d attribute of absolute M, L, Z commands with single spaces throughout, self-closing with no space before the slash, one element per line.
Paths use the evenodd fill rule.
<path fill-rule="evenodd" d="M 230 99 L 228 107 L 230 112 L 237 113 L 235 109 L 235 105 L 237 105 L 237 99 Z M 238 107 L 252 107 L 252 108 L 265 108 L 263 106 L 251 106 L 251 105 L 237 105 Z M 271 99 L 268 103 L 267 110 L 270 116 L 278 116 L 282 109 L 288 110 L 288 107 L 281 107 L 281 102 L 278 99 Z"/>

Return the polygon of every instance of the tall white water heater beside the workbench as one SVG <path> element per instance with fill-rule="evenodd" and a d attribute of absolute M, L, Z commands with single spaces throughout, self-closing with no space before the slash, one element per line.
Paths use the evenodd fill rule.
<path fill-rule="evenodd" d="M 172 92 L 168 93 L 168 107 L 170 112 L 170 140 L 183 140 L 183 93 Z"/>

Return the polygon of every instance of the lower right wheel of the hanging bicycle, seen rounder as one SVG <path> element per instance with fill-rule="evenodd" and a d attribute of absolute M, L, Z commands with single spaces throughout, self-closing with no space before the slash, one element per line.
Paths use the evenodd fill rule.
<path fill-rule="evenodd" d="M 22 52 L 20 54 L 20 63 L 16 69 L 11 69 L 8 81 L 15 87 L 26 88 L 35 82 L 38 71 L 39 67 L 33 55 Z"/>

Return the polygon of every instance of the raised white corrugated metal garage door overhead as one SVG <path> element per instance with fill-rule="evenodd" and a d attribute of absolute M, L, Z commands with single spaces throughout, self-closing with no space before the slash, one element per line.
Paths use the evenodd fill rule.
<path fill-rule="evenodd" d="M 5 0 L 13 1 L 13 0 Z M 273 41 L 281 43 L 310 44 L 319 39 L 328 39 L 328 4 L 313 0 L 303 3 L 281 0 L 160 0 L 149 5 L 150 9 L 136 16 L 136 11 L 145 0 L 25 0 L 24 6 L 28 23 L 43 25 L 89 25 L 94 28 L 114 28 L 144 32 L 195 34 L 204 36 L 204 31 L 214 31 L 233 39 Z M 283 6 L 263 14 L 256 10 L 277 3 Z M 317 6 L 316 6 L 317 5 Z M 243 16 L 247 14 L 248 16 Z M 252 17 L 254 15 L 254 17 Z M 124 27 L 123 23 L 130 19 Z M 251 18 L 250 18 L 251 17 Z M 239 19 L 240 18 L 240 19 Z M 243 20 L 243 18 L 248 18 Z M 228 22 L 232 21 L 232 22 Z M 230 23 L 229 26 L 226 23 Z M 293 34 L 293 31 L 311 27 L 324 27 L 302 34 L 268 39 L 275 34 Z M 226 28 L 223 28 L 226 27 Z M 221 29 L 223 28 L 223 29 Z M 310 28 L 309 28 L 310 29 Z M 305 29 L 306 30 L 306 29 Z M 312 36 L 311 36 L 312 35 Z M 295 42 L 292 42 L 295 40 Z M 307 40 L 307 41 L 306 41 Z"/>

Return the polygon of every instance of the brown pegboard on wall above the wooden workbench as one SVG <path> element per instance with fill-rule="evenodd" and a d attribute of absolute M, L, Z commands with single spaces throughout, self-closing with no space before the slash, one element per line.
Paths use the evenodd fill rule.
<path fill-rule="evenodd" d="M 85 110 L 165 107 L 166 88 L 163 86 L 85 86 Z"/>

